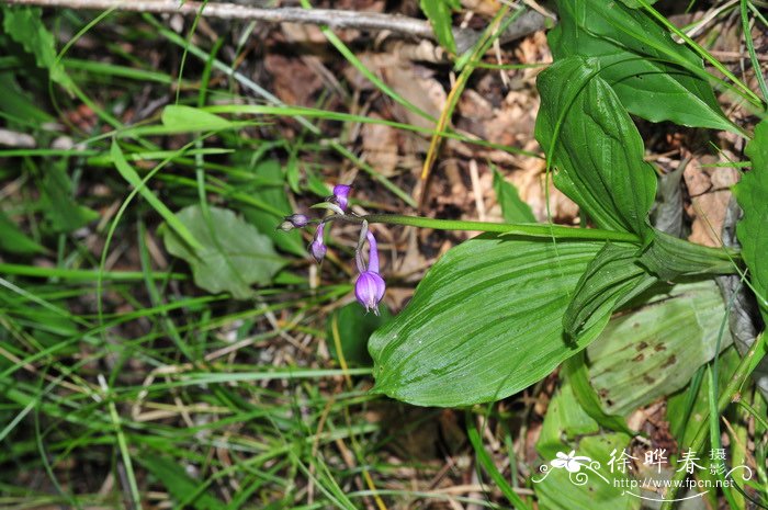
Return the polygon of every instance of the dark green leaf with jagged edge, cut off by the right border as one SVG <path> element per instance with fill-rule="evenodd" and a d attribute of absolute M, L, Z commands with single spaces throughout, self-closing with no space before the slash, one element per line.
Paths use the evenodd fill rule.
<path fill-rule="evenodd" d="M 749 268 L 749 280 L 757 295 L 760 313 L 768 322 L 768 120 L 755 127 L 746 155 L 752 170 L 744 174 L 734 192 L 744 217 L 736 225 L 742 258 Z"/>

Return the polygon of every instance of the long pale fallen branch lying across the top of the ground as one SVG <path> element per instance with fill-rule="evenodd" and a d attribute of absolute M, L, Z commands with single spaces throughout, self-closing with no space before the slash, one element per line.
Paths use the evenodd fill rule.
<path fill-rule="evenodd" d="M 67 9 L 92 9 L 105 11 L 116 9 L 131 12 L 151 12 L 165 14 L 195 15 L 202 8 L 201 2 L 179 0 L 0 0 L 0 3 L 19 5 L 39 5 Z M 434 39 L 434 33 L 428 22 L 416 18 L 376 12 L 341 11 L 334 9 L 280 8 L 260 9 L 236 3 L 207 3 L 203 9 L 205 18 L 222 20 L 261 21 L 264 23 L 301 23 L 325 25 L 335 30 L 355 29 L 369 31 L 388 31 L 394 34 L 409 35 L 418 38 Z M 545 19 L 535 11 L 523 13 L 500 37 L 501 43 L 513 41 L 545 27 Z M 479 32 L 472 29 L 453 29 L 459 53 L 472 47 L 478 39 Z"/>

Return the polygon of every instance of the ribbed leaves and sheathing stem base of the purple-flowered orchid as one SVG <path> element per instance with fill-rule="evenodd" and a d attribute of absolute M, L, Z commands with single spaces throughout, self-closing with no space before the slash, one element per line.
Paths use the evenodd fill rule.
<path fill-rule="evenodd" d="M 632 37 L 653 24 L 620 4 L 612 10 L 610 20 L 628 16 Z M 408 308 L 371 338 L 377 390 L 419 405 L 502 398 L 589 344 L 614 310 L 659 279 L 733 272 L 731 253 L 651 227 L 656 173 L 644 161 L 643 140 L 614 90 L 619 81 L 603 78 L 605 65 L 599 57 L 574 55 L 539 76 L 535 136 L 555 169 L 555 184 L 586 217 L 600 228 L 634 234 L 636 242 L 577 248 L 553 234 L 540 242 L 505 246 L 484 237 L 453 248 L 430 270 Z M 501 184 L 498 175 L 495 184 Z M 569 257 L 579 249 L 583 259 Z M 528 261 L 534 253 L 541 265 Z M 534 287 L 557 296 L 531 294 Z M 588 392 L 581 386 L 580 393 Z M 620 422 L 613 426 L 624 430 Z"/>

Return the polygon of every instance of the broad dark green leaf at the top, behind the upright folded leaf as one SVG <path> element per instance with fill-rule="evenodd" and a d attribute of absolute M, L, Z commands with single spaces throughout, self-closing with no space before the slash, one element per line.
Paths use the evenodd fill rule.
<path fill-rule="evenodd" d="M 701 58 L 677 44 L 645 12 L 619 2 L 557 0 L 560 23 L 549 41 L 555 63 L 595 57 L 605 79 L 632 114 L 652 122 L 738 133 L 723 115 Z"/>

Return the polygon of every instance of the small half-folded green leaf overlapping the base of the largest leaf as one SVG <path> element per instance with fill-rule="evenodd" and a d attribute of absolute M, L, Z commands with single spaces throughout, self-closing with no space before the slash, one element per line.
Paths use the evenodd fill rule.
<path fill-rule="evenodd" d="M 576 286 L 574 298 L 563 316 L 563 328 L 577 337 L 581 328 L 605 321 L 622 304 L 656 283 L 637 264 L 637 247 L 611 242 L 589 263 Z"/>

